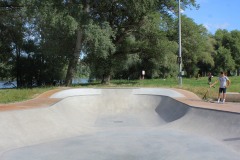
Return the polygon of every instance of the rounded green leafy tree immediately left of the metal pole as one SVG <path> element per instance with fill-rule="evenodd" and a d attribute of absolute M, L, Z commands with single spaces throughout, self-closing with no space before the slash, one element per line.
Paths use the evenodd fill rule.
<path fill-rule="evenodd" d="M 159 13 L 146 16 L 144 24 L 136 34 L 139 43 L 141 70 L 146 77 L 166 78 L 176 76 L 177 43 L 167 37 L 166 23 Z"/>

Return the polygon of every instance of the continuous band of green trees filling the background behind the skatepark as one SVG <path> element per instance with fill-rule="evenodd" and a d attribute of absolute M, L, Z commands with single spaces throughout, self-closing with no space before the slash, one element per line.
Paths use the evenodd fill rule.
<path fill-rule="evenodd" d="M 70 78 L 138 79 L 142 70 L 146 78 L 177 76 L 176 0 L 1 4 L 21 6 L 0 8 L 0 77 L 16 78 L 19 86 L 62 80 L 76 69 Z M 198 8 L 195 0 L 181 5 Z M 182 16 L 182 56 L 188 77 L 240 70 L 240 32 L 218 30 L 212 36 Z"/>

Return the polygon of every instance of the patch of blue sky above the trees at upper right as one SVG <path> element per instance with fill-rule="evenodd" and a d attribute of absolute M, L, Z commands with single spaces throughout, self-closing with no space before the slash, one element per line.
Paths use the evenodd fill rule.
<path fill-rule="evenodd" d="M 210 33 L 217 29 L 240 31 L 240 0 L 196 0 L 200 8 L 185 10 L 183 14 L 195 23 L 203 24 Z"/>

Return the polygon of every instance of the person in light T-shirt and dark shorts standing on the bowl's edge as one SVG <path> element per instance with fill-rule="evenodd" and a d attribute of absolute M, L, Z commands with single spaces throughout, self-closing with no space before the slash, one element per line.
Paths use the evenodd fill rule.
<path fill-rule="evenodd" d="M 220 97 L 222 93 L 223 94 L 222 103 L 224 103 L 226 99 L 227 87 L 230 85 L 230 80 L 228 79 L 227 76 L 225 76 L 224 72 L 221 72 L 218 80 L 216 80 L 213 84 L 211 84 L 210 87 L 213 87 L 217 82 L 220 82 L 217 102 L 220 103 Z"/>

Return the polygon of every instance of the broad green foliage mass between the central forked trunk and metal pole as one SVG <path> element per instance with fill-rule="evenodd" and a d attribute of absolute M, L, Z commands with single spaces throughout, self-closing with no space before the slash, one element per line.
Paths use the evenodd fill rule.
<path fill-rule="evenodd" d="M 123 61 L 124 72 L 119 77 L 139 78 L 141 71 L 146 71 L 146 77 L 176 76 L 177 44 L 169 41 L 165 31 L 165 23 L 161 14 L 152 13 L 144 17 L 139 30 L 125 38 L 119 52 L 128 54 Z M 173 62 L 171 65 L 168 62 Z"/>

